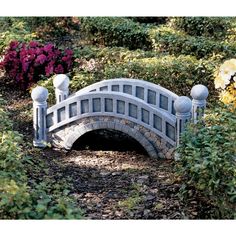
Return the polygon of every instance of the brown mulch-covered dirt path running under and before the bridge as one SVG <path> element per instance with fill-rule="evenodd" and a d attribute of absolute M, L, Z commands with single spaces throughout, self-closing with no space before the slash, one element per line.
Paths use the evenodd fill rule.
<path fill-rule="evenodd" d="M 0 88 L 14 122 L 13 129 L 23 134 L 24 148 L 29 149 L 33 140 L 32 100 L 29 94 L 5 86 L 3 79 Z M 94 138 L 84 140 L 94 143 Z M 48 175 L 55 182 L 69 180 L 70 194 L 77 199 L 85 218 L 210 218 L 213 208 L 205 199 L 179 198 L 181 179 L 175 173 L 174 161 L 150 158 L 134 143 L 134 150 L 107 150 L 101 144 L 97 148 L 100 150 L 86 149 L 91 143 L 70 152 L 53 148 L 30 151 L 35 163 L 37 159 L 45 161 Z M 29 175 L 38 181 L 45 178 L 40 172 Z"/>

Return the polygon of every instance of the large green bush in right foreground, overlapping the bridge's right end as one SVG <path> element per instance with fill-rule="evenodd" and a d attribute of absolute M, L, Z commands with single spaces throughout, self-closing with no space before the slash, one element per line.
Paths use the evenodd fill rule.
<path fill-rule="evenodd" d="M 182 196 L 195 188 L 215 205 L 217 218 L 236 218 L 236 110 L 219 107 L 205 126 L 190 125 L 182 135 L 178 173 Z"/>

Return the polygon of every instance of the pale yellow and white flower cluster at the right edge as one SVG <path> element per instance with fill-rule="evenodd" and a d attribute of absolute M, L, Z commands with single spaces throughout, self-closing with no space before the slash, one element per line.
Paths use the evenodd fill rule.
<path fill-rule="evenodd" d="M 236 59 L 225 61 L 216 72 L 215 88 L 220 89 L 220 100 L 236 107 Z"/>

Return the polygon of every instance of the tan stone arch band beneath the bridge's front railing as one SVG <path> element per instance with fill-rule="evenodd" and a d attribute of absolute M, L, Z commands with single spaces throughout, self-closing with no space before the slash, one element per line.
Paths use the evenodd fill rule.
<path fill-rule="evenodd" d="M 152 131 L 124 118 L 100 116 L 86 117 L 74 121 L 63 128 L 50 132 L 50 141 L 54 146 L 70 150 L 73 144 L 84 134 L 94 130 L 120 131 L 136 140 L 151 157 L 172 157 L 174 147 Z"/>

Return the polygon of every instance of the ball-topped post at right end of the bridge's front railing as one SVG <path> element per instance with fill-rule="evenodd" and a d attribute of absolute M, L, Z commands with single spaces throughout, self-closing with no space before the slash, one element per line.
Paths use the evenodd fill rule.
<path fill-rule="evenodd" d="M 180 142 L 180 135 L 184 131 L 186 122 L 191 119 L 191 108 L 192 102 L 191 99 L 186 96 L 181 96 L 177 98 L 174 102 L 174 107 L 176 110 L 176 118 L 177 118 L 177 146 Z"/>

